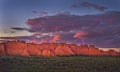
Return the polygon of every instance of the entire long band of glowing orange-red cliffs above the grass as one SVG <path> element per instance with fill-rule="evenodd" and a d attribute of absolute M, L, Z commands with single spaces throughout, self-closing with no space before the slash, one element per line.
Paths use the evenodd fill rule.
<path fill-rule="evenodd" d="M 115 50 L 103 51 L 94 45 L 65 44 L 65 43 L 25 43 L 24 41 L 8 41 L 0 43 L 0 55 L 17 56 L 120 56 Z"/>

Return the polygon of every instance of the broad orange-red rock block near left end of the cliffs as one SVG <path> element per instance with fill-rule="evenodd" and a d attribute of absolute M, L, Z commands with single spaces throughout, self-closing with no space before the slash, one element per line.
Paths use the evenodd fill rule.
<path fill-rule="evenodd" d="M 27 44 L 25 42 L 8 41 L 4 46 L 7 55 L 28 55 L 26 50 Z"/>

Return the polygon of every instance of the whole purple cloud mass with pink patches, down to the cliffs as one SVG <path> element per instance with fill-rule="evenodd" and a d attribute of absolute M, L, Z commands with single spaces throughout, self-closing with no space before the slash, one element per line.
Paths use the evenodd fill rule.
<path fill-rule="evenodd" d="M 38 33 L 33 36 L 41 42 L 84 42 L 99 47 L 120 47 L 120 12 L 85 16 L 57 14 L 29 19 L 27 24 L 33 33 Z"/>

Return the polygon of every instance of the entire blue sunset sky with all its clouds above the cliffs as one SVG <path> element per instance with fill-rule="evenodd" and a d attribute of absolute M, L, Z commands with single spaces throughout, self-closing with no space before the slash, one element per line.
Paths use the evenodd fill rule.
<path fill-rule="evenodd" d="M 120 0 L 0 0 L 0 39 L 120 47 Z"/>

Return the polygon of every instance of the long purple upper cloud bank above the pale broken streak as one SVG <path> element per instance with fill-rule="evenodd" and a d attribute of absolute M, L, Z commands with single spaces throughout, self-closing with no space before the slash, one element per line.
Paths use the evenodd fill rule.
<path fill-rule="evenodd" d="M 75 15 L 55 15 L 40 18 L 28 19 L 27 25 L 35 32 L 59 32 L 71 30 L 89 30 L 94 27 L 96 29 L 106 29 L 119 23 L 119 15 L 116 13 L 75 16 Z M 99 30 L 100 30 L 99 29 Z M 93 29 L 91 29 L 93 30 Z"/>

